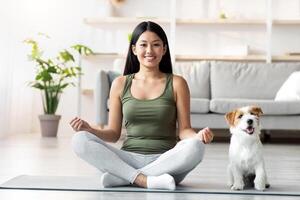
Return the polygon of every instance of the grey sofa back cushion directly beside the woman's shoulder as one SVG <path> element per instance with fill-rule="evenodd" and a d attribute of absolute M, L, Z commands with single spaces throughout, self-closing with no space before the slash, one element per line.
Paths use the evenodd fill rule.
<path fill-rule="evenodd" d="M 209 62 L 176 62 L 173 71 L 185 78 L 191 97 L 210 98 Z"/>

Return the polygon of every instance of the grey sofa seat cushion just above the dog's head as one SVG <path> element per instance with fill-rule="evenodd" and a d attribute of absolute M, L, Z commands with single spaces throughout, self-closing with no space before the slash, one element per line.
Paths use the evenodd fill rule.
<path fill-rule="evenodd" d="M 265 99 L 225 99 L 210 101 L 210 110 L 225 114 L 236 108 L 256 105 L 262 108 L 264 115 L 296 115 L 300 114 L 300 101 L 274 101 Z"/>

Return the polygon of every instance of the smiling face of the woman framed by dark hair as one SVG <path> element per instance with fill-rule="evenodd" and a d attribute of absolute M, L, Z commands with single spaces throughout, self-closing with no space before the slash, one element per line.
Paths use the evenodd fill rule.
<path fill-rule="evenodd" d="M 166 53 L 166 48 L 156 33 L 145 31 L 140 35 L 136 44 L 132 46 L 132 51 L 137 56 L 141 67 L 158 68 L 163 55 Z"/>

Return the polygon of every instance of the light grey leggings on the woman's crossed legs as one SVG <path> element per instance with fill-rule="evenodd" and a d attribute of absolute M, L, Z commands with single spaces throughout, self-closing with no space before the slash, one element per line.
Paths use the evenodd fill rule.
<path fill-rule="evenodd" d="M 163 154 L 144 155 L 117 149 L 89 132 L 80 131 L 74 134 L 72 146 L 81 159 L 103 173 L 126 180 L 127 184 L 133 183 L 140 173 L 147 176 L 168 173 L 178 184 L 204 155 L 204 144 L 194 138 L 181 140 Z"/>

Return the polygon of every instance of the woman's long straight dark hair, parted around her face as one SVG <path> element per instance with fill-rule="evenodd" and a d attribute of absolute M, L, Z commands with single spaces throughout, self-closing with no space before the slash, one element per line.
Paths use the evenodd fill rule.
<path fill-rule="evenodd" d="M 158 24 L 147 21 L 138 24 L 132 32 L 123 75 L 137 73 L 140 70 L 140 62 L 138 61 L 137 56 L 133 54 L 132 46 L 136 45 L 139 37 L 145 31 L 156 33 L 163 41 L 163 45 L 167 47 L 166 53 L 163 55 L 159 63 L 159 70 L 164 73 L 172 73 L 172 62 L 167 35 Z"/>

